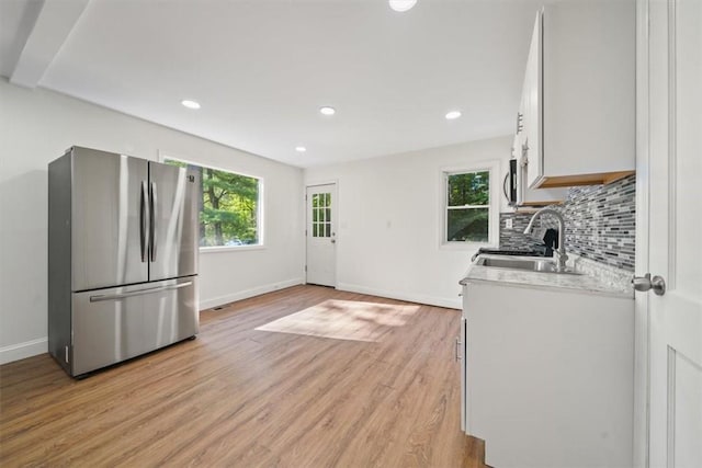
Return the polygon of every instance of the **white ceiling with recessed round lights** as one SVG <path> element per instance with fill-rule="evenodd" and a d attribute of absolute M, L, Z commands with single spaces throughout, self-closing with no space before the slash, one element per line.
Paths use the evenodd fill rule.
<path fill-rule="evenodd" d="M 512 132 L 540 3 L 1 0 L 0 75 L 310 167 Z"/>

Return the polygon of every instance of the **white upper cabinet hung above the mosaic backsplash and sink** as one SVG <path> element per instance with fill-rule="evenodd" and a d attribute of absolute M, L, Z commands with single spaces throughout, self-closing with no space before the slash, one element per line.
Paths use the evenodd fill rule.
<path fill-rule="evenodd" d="M 635 35 L 634 0 L 574 0 L 537 13 L 520 133 L 530 187 L 634 172 Z"/>

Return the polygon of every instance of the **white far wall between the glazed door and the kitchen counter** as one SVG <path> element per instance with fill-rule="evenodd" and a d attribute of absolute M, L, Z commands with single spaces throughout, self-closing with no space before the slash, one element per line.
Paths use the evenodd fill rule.
<path fill-rule="evenodd" d="M 306 184 L 338 182 L 338 288 L 460 308 L 458 281 L 475 248 L 440 247 L 442 169 L 499 160 L 501 193 L 511 142 L 500 137 L 306 169 Z"/>

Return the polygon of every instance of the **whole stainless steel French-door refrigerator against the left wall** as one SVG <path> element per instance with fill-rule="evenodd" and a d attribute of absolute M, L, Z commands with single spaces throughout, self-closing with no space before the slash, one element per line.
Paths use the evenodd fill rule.
<path fill-rule="evenodd" d="M 199 332 L 200 178 L 80 147 L 48 164 L 48 346 L 71 376 Z"/>

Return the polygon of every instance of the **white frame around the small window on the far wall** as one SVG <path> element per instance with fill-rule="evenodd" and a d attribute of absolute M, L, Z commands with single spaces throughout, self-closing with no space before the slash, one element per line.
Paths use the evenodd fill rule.
<path fill-rule="evenodd" d="M 446 240 L 446 229 L 449 222 L 449 175 L 452 174 L 463 174 L 466 172 L 489 172 L 489 205 L 486 205 L 488 208 L 488 240 L 487 242 L 466 242 L 466 241 L 449 241 Z M 440 206 L 440 222 L 439 222 L 439 247 L 443 250 L 476 250 L 480 247 L 492 247 L 496 248 L 499 246 L 499 218 L 500 218 L 500 192 L 499 192 L 499 173 L 500 173 L 500 161 L 499 160 L 489 160 L 489 161 L 478 161 L 464 165 L 453 165 L 453 167 L 444 167 L 441 168 L 440 172 L 440 197 L 439 197 L 439 206 Z"/>

